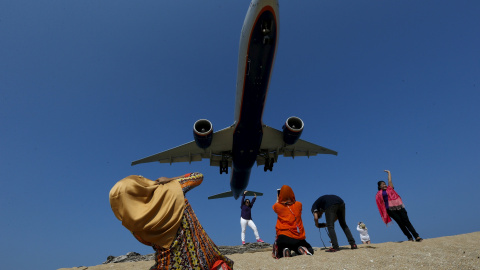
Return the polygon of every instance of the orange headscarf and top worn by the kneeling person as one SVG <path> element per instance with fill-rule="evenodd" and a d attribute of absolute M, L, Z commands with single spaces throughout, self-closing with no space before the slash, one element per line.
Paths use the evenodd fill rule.
<path fill-rule="evenodd" d="M 294 239 L 305 239 L 302 203 L 295 200 L 295 194 L 291 187 L 282 186 L 278 202 L 273 205 L 273 211 L 277 213 L 277 225 L 275 226 L 277 236 L 285 235 Z"/>

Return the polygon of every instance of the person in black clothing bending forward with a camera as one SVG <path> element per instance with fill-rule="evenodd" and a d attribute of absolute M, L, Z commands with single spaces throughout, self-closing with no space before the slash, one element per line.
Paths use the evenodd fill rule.
<path fill-rule="evenodd" d="M 325 223 L 318 223 L 318 219 L 322 217 L 323 213 L 325 213 Z M 324 228 L 327 227 L 328 229 L 328 236 L 330 236 L 330 240 L 332 241 L 332 247 L 327 252 L 335 252 L 340 251 L 340 247 L 338 246 L 337 241 L 337 234 L 335 233 L 335 221 L 338 219 L 338 223 L 343 229 L 345 236 L 348 239 L 348 243 L 350 244 L 352 249 L 357 249 L 357 245 L 355 244 L 355 239 L 350 232 L 350 229 L 347 226 L 347 222 L 345 221 L 345 202 L 342 198 L 336 195 L 323 195 L 318 198 L 312 205 L 312 214 L 313 219 L 315 220 L 315 226 L 317 228 Z"/>

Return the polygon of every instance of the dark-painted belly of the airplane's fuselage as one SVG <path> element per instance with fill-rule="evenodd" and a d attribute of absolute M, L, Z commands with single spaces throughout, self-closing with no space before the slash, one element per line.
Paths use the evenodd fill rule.
<path fill-rule="evenodd" d="M 240 117 L 233 134 L 230 187 L 235 199 L 248 186 L 262 143 L 262 114 L 275 57 L 276 30 L 274 14 L 266 9 L 259 14 L 250 36 Z"/>

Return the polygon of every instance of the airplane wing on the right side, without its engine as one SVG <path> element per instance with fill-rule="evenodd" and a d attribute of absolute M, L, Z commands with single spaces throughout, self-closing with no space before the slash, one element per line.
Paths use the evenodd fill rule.
<path fill-rule="evenodd" d="M 300 157 L 300 156 L 316 156 L 318 154 L 337 155 L 336 151 L 327 149 L 323 146 L 316 145 L 302 139 L 299 139 L 293 145 L 286 145 L 283 142 L 283 132 L 269 126 L 263 126 L 263 139 L 260 146 L 260 152 L 268 153 L 270 158 L 277 161 L 278 156 L 284 157 Z M 264 165 L 265 158 L 258 156 L 257 166 Z"/>

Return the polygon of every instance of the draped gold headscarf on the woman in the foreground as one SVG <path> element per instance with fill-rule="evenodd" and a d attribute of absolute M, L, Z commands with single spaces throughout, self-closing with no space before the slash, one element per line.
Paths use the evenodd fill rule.
<path fill-rule="evenodd" d="M 128 230 L 147 242 L 169 248 L 181 224 L 185 198 L 176 180 L 159 185 L 130 175 L 110 190 L 110 205 Z"/>

